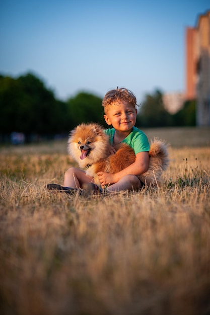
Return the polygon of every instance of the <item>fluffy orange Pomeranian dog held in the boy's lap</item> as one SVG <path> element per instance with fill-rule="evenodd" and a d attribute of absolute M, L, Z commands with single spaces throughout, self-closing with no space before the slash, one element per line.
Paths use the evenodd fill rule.
<path fill-rule="evenodd" d="M 99 124 L 81 124 L 69 133 L 68 153 L 80 168 L 87 169 L 86 174 L 99 186 L 98 172 L 114 174 L 135 162 L 134 151 L 126 143 L 115 145 L 116 153 L 111 155 L 108 145 L 109 138 Z M 146 185 L 157 186 L 169 164 L 167 144 L 155 138 L 150 144 L 149 156 L 148 171 L 138 177 Z"/>

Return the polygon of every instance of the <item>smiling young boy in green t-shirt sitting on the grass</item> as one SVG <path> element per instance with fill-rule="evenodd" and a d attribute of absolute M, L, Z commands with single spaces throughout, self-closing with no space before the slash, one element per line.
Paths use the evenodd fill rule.
<path fill-rule="evenodd" d="M 133 148 L 136 156 L 133 164 L 116 174 L 98 173 L 101 185 L 108 186 L 108 193 L 140 189 L 142 183 L 138 179 L 138 175 L 145 173 L 149 166 L 150 144 L 148 138 L 143 131 L 134 127 L 137 115 L 136 105 L 134 94 L 124 88 L 110 90 L 102 101 L 104 119 L 108 125 L 113 127 L 105 130 L 110 136 L 110 153 L 115 153 L 112 145 L 125 142 Z M 88 177 L 85 171 L 70 168 L 64 176 L 64 187 L 57 185 L 59 188 L 54 187 L 54 189 L 67 193 L 71 189 L 85 188 L 92 182 L 93 178 Z M 53 185 L 56 186 L 49 184 L 47 188 L 53 189 Z M 95 187 L 95 190 L 98 188 Z"/>

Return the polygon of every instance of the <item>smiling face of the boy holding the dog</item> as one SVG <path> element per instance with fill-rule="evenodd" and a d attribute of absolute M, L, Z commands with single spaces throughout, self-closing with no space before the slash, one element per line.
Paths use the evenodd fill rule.
<path fill-rule="evenodd" d="M 113 103 L 109 106 L 108 112 L 104 115 L 104 119 L 108 125 L 119 131 L 129 131 L 135 124 L 137 109 L 131 104 Z"/>

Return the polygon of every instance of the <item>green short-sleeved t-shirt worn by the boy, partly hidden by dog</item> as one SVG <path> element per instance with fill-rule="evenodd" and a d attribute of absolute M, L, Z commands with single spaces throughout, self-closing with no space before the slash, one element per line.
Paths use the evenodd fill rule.
<path fill-rule="evenodd" d="M 106 129 L 105 133 L 109 136 L 110 143 L 113 145 L 115 129 L 114 128 Z M 135 154 L 150 150 L 150 143 L 148 141 L 148 137 L 142 130 L 136 127 L 133 127 L 132 131 L 124 140 L 122 140 L 122 142 L 125 142 L 130 147 L 132 147 Z"/>

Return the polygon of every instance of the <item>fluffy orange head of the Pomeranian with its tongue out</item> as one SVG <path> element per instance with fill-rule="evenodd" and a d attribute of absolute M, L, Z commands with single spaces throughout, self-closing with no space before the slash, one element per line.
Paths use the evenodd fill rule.
<path fill-rule="evenodd" d="M 106 155 L 108 138 L 98 124 L 77 126 L 68 139 L 68 152 L 80 167 L 96 163 Z"/>

